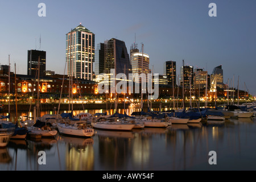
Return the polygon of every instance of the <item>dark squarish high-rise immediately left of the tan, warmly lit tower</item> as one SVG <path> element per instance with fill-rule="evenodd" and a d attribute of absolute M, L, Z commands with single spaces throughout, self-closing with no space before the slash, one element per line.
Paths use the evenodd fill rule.
<path fill-rule="evenodd" d="M 184 73 L 183 73 L 184 71 Z M 193 88 L 193 67 L 192 66 L 184 66 L 180 68 L 180 85 L 183 85 L 184 81 L 184 88 Z"/>

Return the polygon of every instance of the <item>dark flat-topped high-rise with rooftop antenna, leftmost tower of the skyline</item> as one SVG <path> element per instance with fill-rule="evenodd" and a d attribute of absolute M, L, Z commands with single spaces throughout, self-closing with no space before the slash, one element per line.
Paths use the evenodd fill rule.
<path fill-rule="evenodd" d="M 27 51 L 27 75 L 37 76 L 39 66 L 39 76 L 46 76 L 46 51 Z"/>

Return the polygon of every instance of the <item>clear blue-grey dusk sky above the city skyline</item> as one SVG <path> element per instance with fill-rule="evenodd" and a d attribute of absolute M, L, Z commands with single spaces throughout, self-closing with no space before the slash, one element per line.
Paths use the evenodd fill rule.
<path fill-rule="evenodd" d="M 39 3 L 46 17 L 38 16 Z M 210 3 L 217 16 L 210 17 Z M 27 74 L 27 51 L 46 51 L 46 69 L 64 73 L 65 34 L 81 23 L 95 34 L 95 45 L 116 38 L 129 52 L 135 41 L 150 56 L 150 68 L 163 74 L 164 61 L 212 73 L 222 65 L 224 83 L 256 96 L 256 1 L 251 0 L 10 0 L 0 2 L 0 64 Z M 41 44 L 39 43 L 41 36 Z M 233 85 L 230 84 L 230 86 Z"/>

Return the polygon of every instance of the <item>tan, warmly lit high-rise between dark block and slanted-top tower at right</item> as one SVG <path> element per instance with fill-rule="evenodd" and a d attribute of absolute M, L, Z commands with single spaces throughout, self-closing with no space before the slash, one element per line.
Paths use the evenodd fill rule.
<path fill-rule="evenodd" d="M 208 76 L 207 71 L 203 71 L 203 69 L 195 69 L 194 88 L 195 89 L 205 88 L 207 84 L 207 76 Z"/>

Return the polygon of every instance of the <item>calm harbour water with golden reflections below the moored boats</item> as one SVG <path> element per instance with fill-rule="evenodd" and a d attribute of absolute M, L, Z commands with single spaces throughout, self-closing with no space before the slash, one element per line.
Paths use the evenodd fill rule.
<path fill-rule="evenodd" d="M 10 140 L 0 149 L 0 170 L 256 170 L 255 123 L 256 118 L 227 119 L 167 129 L 96 130 L 92 138 Z M 38 164 L 39 151 L 46 152 L 45 165 Z M 210 151 L 216 151 L 216 165 L 208 163 Z"/>

